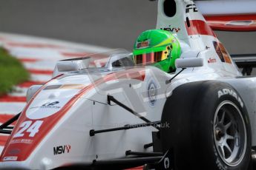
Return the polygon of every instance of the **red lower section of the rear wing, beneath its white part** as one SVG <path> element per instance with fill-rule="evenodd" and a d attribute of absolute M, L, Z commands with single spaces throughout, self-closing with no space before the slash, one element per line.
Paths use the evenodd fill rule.
<path fill-rule="evenodd" d="M 256 15 L 204 16 L 213 30 L 256 31 Z M 237 24 L 236 24 L 237 23 Z M 247 23 L 247 24 L 246 24 Z"/>

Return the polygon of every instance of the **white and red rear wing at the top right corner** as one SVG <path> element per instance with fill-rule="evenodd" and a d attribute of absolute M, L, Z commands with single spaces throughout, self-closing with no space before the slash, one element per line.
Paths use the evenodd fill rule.
<path fill-rule="evenodd" d="M 256 31 L 255 0 L 197 0 L 195 4 L 212 30 Z"/>

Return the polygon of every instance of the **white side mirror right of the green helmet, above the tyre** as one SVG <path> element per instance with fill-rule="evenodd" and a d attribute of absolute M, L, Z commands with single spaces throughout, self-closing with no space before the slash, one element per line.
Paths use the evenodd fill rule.
<path fill-rule="evenodd" d="M 175 61 L 176 68 L 202 67 L 203 58 L 178 58 Z"/>

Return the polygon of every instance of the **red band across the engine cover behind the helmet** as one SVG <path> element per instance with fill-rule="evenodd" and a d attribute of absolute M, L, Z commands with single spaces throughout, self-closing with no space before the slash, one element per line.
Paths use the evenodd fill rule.
<path fill-rule="evenodd" d="M 188 27 L 189 24 L 190 27 Z M 185 23 L 188 35 L 211 35 L 216 37 L 206 21 L 189 20 L 189 24 Z"/>

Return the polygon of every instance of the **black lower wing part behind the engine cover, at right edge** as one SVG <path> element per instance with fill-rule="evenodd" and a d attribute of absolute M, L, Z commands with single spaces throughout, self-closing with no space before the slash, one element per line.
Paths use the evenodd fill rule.
<path fill-rule="evenodd" d="M 256 54 L 234 54 L 231 57 L 243 75 L 252 74 L 252 68 L 256 67 Z"/>

